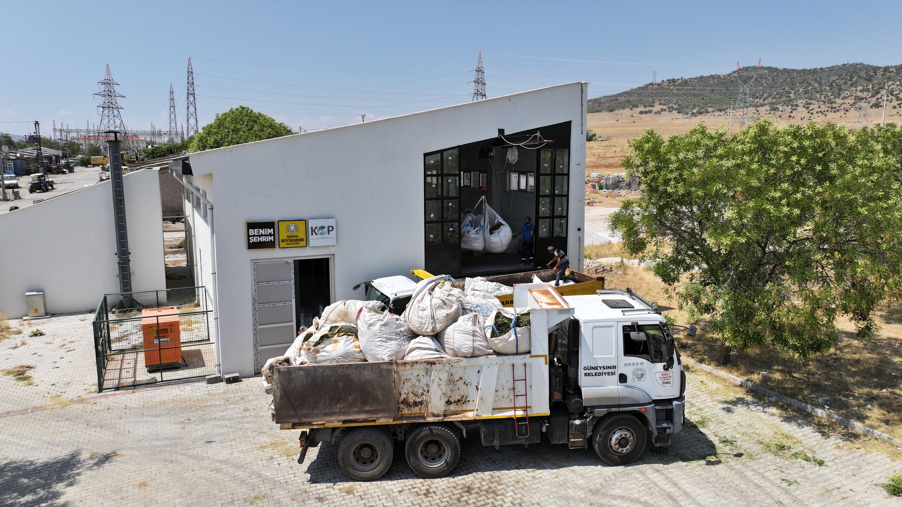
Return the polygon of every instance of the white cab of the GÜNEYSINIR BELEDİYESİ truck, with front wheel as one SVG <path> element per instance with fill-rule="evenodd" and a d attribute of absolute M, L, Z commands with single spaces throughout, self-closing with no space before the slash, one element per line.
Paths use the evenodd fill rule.
<path fill-rule="evenodd" d="M 633 450 L 644 448 L 646 438 L 639 433 L 649 430 L 661 446 L 682 430 L 686 376 L 670 327 L 655 305 L 631 291 L 598 293 L 566 298 L 575 312 L 557 330 L 552 398 L 564 404 L 571 419 L 575 414 L 579 421 L 582 414 L 585 424 L 596 427 L 576 432 L 571 427 L 571 435 L 576 433 L 571 447 L 580 444 L 574 438 L 596 433 L 600 457 L 628 463 Z M 630 428 L 623 419 L 630 415 L 645 428 Z"/>

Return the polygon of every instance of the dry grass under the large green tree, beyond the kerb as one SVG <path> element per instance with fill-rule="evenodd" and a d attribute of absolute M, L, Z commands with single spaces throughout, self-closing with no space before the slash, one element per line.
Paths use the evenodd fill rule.
<path fill-rule="evenodd" d="M 665 315 L 687 324 L 686 312 L 676 309 L 676 300 L 665 294 L 657 276 L 644 267 L 623 268 L 622 276 L 605 278 L 605 288 L 632 288 L 649 301 L 657 301 Z M 851 321 L 842 318 L 842 330 L 833 349 L 814 358 L 790 358 L 778 349 L 757 347 L 734 350 L 731 361 L 718 366 L 740 378 L 861 422 L 875 430 L 902 438 L 902 303 L 888 303 L 875 316 L 881 327 L 877 338 L 859 340 Z M 706 332 L 704 320 L 695 322 L 695 338 L 676 335 L 680 352 L 705 364 L 715 365 L 720 342 Z M 768 372 L 762 381 L 760 372 Z M 829 398 L 829 402 L 818 400 Z M 870 407 L 868 406 L 870 405 Z"/>

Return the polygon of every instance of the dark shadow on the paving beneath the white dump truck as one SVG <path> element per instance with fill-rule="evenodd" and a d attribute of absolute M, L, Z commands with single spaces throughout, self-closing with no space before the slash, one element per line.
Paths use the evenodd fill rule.
<path fill-rule="evenodd" d="M 461 456 L 454 471 L 447 477 L 456 477 L 483 472 L 527 469 L 557 469 L 570 466 L 610 466 L 605 464 L 593 448 L 570 449 L 561 444 L 550 444 L 543 437 L 538 444 L 485 447 L 477 429 L 467 430 L 467 438 L 461 439 Z M 709 460 L 717 455 L 717 448 L 695 424 L 686 421 L 681 433 L 673 436 L 669 447 L 656 448 L 649 443 L 646 451 L 634 463 L 628 466 L 649 464 L 669 465 L 677 462 L 704 460 L 707 465 L 719 465 L 719 460 Z M 338 445 L 320 444 L 317 456 L 307 467 L 310 483 L 347 483 L 353 482 L 346 477 L 338 466 L 336 459 Z M 408 466 L 404 442 L 396 442 L 394 455 L 389 471 L 381 481 L 402 479 L 418 479 Z"/>

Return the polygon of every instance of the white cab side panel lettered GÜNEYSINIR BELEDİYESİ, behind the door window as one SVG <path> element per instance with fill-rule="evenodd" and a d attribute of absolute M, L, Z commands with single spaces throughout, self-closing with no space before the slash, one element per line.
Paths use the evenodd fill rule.
<path fill-rule="evenodd" d="M 580 333 L 580 387 L 617 385 L 617 325 L 614 322 L 585 322 Z"/>

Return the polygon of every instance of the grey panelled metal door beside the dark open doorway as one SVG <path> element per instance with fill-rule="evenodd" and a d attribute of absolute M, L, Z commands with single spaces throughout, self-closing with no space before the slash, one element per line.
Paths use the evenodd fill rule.
<path fill-rule="evenodd" d="M 294 262 L 253 263 L 253 360 L 259 372 L 266 360 L 285 353 L 295 339 Z"/>

